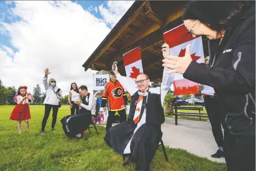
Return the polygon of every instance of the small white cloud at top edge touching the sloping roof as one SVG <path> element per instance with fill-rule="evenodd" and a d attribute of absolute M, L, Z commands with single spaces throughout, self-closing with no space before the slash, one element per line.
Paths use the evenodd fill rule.
<path fill-rule="evenodd" d="M 104 21 L 109 23 L 111 27 L 114 27 L 133 3 L 134 1 L 107 1 L 107 6 L 104 7 L 101 4 L 98 6 L 98 10 Z"/>

